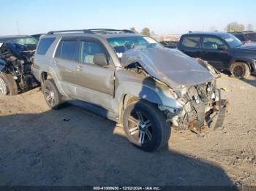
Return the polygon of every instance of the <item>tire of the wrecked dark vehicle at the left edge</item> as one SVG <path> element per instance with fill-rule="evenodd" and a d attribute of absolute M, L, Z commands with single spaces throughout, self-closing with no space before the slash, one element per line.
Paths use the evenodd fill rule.
<path fill-rule="evenodd" d="M 18 95 L 18 86 L 12 77 L 12 74 L 0 74 L 0 86 L 3 86 L 0 90 L 2 95 Z"/>

